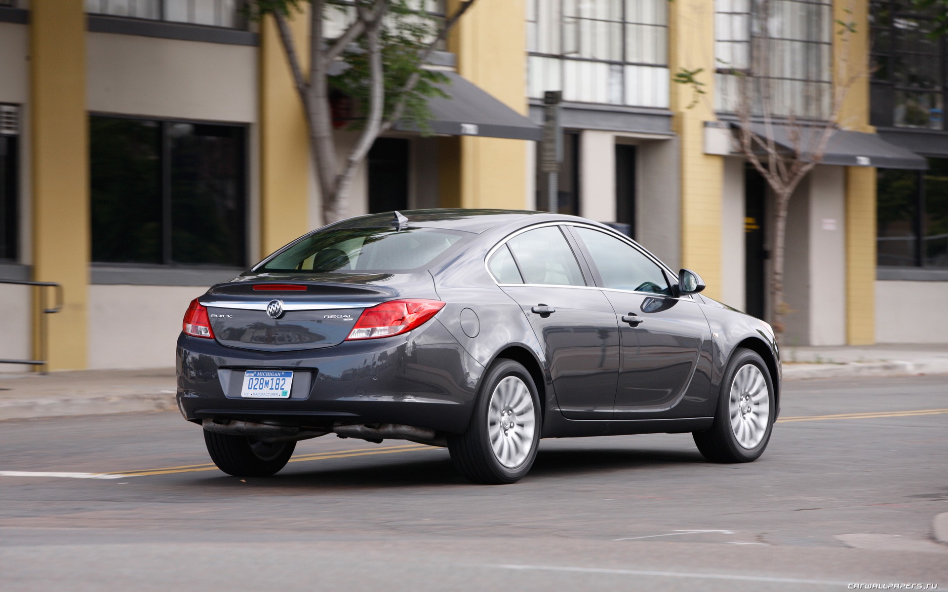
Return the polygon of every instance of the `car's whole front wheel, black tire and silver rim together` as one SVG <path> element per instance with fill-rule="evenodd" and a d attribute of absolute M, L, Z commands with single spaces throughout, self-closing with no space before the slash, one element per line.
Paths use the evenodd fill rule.
<path fill-rule="evenodd" d="M 756 351 L 740 348 L 724 371 L 714 423 L 692 437 L 711 462 L 751 462 L 767 448 L 775 414 L 767 365 Z"/>

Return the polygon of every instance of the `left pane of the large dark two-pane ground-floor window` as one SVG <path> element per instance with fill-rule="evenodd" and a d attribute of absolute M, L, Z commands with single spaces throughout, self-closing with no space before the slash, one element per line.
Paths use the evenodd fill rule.
<path fill-rule="evenodd" d="M 89 118 L 92 260 L 161 262 L 160 153 L 156 121 Z"/>

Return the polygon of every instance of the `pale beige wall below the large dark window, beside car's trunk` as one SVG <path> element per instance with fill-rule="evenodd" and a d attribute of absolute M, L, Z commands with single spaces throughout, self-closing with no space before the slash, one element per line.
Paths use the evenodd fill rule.
<path fill-rule="evenodd" d="M 169 368 L 199 286 L 89 286 L 89 368 Z"/>

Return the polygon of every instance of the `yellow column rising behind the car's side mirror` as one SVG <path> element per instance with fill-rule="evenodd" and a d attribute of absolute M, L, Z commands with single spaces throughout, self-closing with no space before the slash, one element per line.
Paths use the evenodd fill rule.
<path fill-rule="evenodd" d="M 698 272 L 705 294 L 721 294 L 720 215 L 724 159 L 704 153 L 704 122 L 714 115 L 714 0 L 668 2 L 668 65 L 703 68 L 697 80 L 706 93 L 697 96 L 684 84 L 671 83 L 671 110 L 681 142 L 682 266 Z"/>

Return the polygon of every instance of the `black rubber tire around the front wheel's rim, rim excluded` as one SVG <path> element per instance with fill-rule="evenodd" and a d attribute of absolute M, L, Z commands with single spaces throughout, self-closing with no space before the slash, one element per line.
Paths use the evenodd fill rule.
<path fill-rule="evenodd" d="M 731 386 L 734 384 L 738 370 L 748 365 L 757 367 L 763 375 L 767 386 L 767 400 L 769 404 L 768 417 L 763 437 L 757 445 L 747 448 L 738 442 L 738 436 L 731 423 Z M 753 371 L 753 370 L 751 370 Z M 693 432 L 692 437 L 702 456 L 711 462 L 751 462 L 757 460 L 767 448 L 771 432 L 774 428 L 776 404 L 774 397 L 774 381 L 770 370 L 763 359 L 753 350 L 739 348 L 731 356 L 724 371 L 724 378 L 720 384 L 718 406 L 715 411 L 714 423 L 711 428 L 702 432 Z"/>

